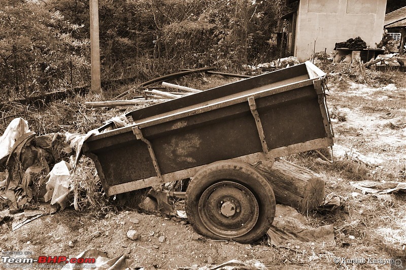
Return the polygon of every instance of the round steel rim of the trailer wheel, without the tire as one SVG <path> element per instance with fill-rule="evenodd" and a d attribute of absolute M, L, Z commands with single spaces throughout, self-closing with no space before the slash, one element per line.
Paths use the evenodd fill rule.
<path fill-rule="evenodd" d="M 201 222 L 214 234 L 236 238 L 255 226 L 259 206 L 247 187 L 225 180 L 211 185 L 201 194 L 198 214 Z"/>

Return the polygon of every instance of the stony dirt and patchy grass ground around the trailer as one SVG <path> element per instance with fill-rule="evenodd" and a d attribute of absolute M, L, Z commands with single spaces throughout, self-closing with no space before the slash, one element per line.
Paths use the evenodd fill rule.
<path fill-rule="evenodd" d="M 332 75 L 327 92 L 329 109 L 334 111 L 334 143 L 374 158 L 375 164 L 355 161 L 325 164 L 317 162 L 319 156 L 315 153 L 286 157 L 322 175 L 326 194 L 335 192 L 345 200 L 344 207 L 333 213 L 306 215 L 314 227 L 333 224 L 335 245 L 327 245 L 321 239 L 319 243 L 288 241 L 275 248 L 268 244 L 266 236 L 254 244 L 215 241 L 201 237 L 180 219 L 131 209 L 108 215 L 66 209 L 41 216 L 15 231 L 10 231 L 8 220 L 7 227 L 3 226 L 0 233 L 0 250 L 31 251 L 32 257 L 38 257 L 78 255 L 96 248 L 108 258 L 125 255 L 130 269 L 151 266 L 196 269 L 233 259 L 258 261 L 269 269 L 391 269 L 390 264 L 377 261 L 336 261 L 336 258 L 402 258 L 406 261 L 403 248 L 406 245 L 406 195 L 395 193 L 391 201 L 355 196 L 354 192 L 360 191 L 349 183 L 405 181 L 406 75 L 389 72 L 383 76 L 391 77 L 397 89 L 370 87 Z M 130 229 L 140 234 L 138 240 L 127 238 Z M 6 265 L 0 262 L 2 267 Z"/>

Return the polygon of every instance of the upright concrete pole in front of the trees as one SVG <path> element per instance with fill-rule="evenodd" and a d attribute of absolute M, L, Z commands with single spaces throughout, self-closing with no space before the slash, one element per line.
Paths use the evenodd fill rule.
<path fill-rule="evenodd" d="M 91 92 L 101 92 L 100 45 L 98 37 L 98 0 L 90 0 L 90 75 Z"/>

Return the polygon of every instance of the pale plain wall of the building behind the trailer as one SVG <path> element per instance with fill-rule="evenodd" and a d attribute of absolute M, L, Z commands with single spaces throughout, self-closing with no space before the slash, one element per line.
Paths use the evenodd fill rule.
<path fill-rule="evenodd" d="M 294 55 L 299 61 L 316 52 L 334 50 L 336 42 L 361 37 L 376 48 L 382 40 L 386 0 L 300 0 Z"/>

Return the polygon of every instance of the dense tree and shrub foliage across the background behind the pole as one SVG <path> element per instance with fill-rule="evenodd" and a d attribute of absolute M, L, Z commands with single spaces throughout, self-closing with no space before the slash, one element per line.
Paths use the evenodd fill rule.
<path fill-rule="evenodd" d="M 99 0 L 102 77 L 269 61 L 280 2 Z M 3 92 L 27 95 L 89 81 L 88 1 L 0 0 L 0 7 Z"/>

